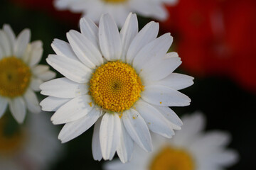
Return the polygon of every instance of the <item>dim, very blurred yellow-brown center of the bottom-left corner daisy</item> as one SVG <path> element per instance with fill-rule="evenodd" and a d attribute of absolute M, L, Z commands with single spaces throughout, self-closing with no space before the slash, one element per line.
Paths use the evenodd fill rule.
<path fill-rule="evenodd" d="M 4 134 L 6 119 L 0 119 L 0 155 L 14 154 L 23 144 L 23 132 L 18 131 L 12 135 Z"/>

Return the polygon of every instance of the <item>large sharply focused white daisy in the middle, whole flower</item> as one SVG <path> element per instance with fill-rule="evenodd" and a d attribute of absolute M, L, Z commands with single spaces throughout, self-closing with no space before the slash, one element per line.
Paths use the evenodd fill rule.
<path fill-rule="evenodd" d="M 148 23 L 138 33 L 137 16 L 130 13 L 118 31 L 105 14 L 97 28 L 89 18 L 80 20 L 81 32 L 70 30 L 69 43 L 54 40 L 57 55 L 46 59 L 65 78 L 40 86 L 49 97 L 43 111 L 55 111 L 53 124 L 65 123 L 58 138 L 68 142 L 93 124 L 92 153 L 96 160 L 122 162 L 132 154 L 134 142 L 151 151 L 149 130 L 164 137 L 174 135 L 182 122 L 168 106 L 188 106 L 190 98 L 177 90 L 193 78 L 172 73 L 181 64 L 169 50 L 173 38 L 156 38 L 159 23 Z"/>

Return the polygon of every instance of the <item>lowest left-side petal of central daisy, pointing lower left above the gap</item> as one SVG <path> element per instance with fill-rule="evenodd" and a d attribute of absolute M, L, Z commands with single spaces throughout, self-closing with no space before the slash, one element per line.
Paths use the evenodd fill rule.
<path fill-rule="evenodd" d="M 98 108 L 93 108 L 92 111 L 84 117 L 73 122 L 66 123 L 60 131 L 58 139 L 61 140 L 62 143 L 73 140 L 95 124 L 99 117 L 100 110 Z"/>

